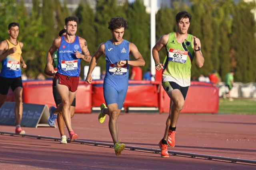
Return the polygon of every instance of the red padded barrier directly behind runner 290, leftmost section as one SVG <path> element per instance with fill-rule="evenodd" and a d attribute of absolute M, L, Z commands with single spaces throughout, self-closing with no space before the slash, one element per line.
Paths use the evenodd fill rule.
<path fill-rule="evenodd" d="M 30 104 L 45 104 L 48 107 L 55 106 L 52 84 L 40 84 L 35 81 L 23 86 L 23 102 Z M 42 81 L 43 83 L 46 83 Z M 52 81 L 50 81 L 52 82 Z M 37 84 L 37 85 L 32 85 Z M 76 113 L 91 113 L 92 85 L 80 81 L 76 92 Z"/>

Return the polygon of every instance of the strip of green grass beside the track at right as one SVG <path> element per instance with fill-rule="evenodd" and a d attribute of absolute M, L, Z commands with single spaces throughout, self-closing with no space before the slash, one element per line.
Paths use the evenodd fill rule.
<path fill-rule="evenodd" d="M 220 98 L 218 113 L 256 115 L 256 100 L 234 99 L 234 101 L 229 101 Z"/>

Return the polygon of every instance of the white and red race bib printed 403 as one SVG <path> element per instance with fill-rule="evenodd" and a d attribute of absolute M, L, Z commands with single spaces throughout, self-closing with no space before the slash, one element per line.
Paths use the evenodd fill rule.
<path fill-rule="evenodd" d="M 188 51 L 182 51 L 177 49 L 169 49 L 168 61 L 176 63 L 186 63 Z"/>

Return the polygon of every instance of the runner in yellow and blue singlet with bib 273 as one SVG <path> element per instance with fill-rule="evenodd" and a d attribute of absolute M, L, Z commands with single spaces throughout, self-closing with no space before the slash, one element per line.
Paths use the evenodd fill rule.
<path fill-rule="evenodd" d="M 21 129 L 20 122 L 22 118 L 22 80 L 21 67 L 26 68 L 27 65 L 22 59 L 23 43 L 17 41 L 19 35 L 19 23 L 12 22 L 8 25 L 8 33 L 10 37 L 0 43 L 0 61 L 2 69 L 0 73 L 0 107 L 4 104 L 9 87 L 12 88 L 14 100 L 16 102 L 14 113 L 16 119 L 15 133 L 24 134 Z"/>

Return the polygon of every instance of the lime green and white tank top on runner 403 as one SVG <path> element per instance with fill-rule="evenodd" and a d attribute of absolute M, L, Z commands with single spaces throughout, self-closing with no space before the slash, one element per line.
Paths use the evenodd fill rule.
<path fill-rule="evenodd" d="M 190 86 L 191 63 L 194 59 L 192 38 L 193 35 L 188 34 L 183 43 L 178 43 L 175 33 L 169 34 L 162 82 L 176 82 L 182 87 Z"/>

